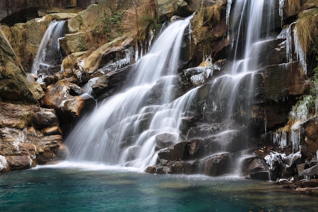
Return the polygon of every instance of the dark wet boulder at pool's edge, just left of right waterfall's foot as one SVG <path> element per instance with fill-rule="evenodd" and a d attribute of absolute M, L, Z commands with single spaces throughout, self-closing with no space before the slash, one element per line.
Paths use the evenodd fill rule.
<path fill-rule="evenodd" d="M 202 160 L 202 172 L 209 176 L 219 176 L 231 171 L 229 153 L 212 155 Z"/>

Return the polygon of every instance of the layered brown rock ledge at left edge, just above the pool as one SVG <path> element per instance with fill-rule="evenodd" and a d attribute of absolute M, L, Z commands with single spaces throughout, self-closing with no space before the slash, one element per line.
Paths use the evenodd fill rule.
<path fill-rule="evenodd" d="M 0 172 L 65 158 L 53 109 L 0 101 Z"/>

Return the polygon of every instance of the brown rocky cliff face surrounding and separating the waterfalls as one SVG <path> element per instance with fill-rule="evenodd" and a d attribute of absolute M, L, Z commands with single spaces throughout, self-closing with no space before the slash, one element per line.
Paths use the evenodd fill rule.
<path fill-rule="evenodd" d="M 77 1 L 77 6 L 85 5 L 83 2 L 92 3 L 92 1 Z M 299 107 L 299 105 L 304 103 L 298 102 L 299 100 L 304 99 L 303 97 L 309 94 L 312 94 L 312 98 L 315 98 L 316 94 L 312 93 L 313 84 L 315 84 L 315 81 L 312 81 L 314 78 L 313 68 L 317 65 L 314 59 L 314 49 L 312 49 L 312 53 L 307 55 L 314 62 L 308 65 L 308 70 L 305 74 L 301 61 L 297 60 L 297 55 L 292 56 L 293 62 L 289 68 L 286 68 L 285 63 L 289 61 L 287 58 L 287 46 L 284 44 L 285 39 L 278 38 L 265 42 L 263 52 L 260 53 L 263 68 L 255 73 L 257 86 L 253 89 L 253 101 L 250 111 L 244 111 L 245 109 L 242 108 L 240 114 L 236 114 L 237 123 L 235 124 L 240 129 L 240 132 L 230 133 L 227 139 L 222 136 L 212 136 L 211 134 L 221 132 L 226 127 L 219 122 L 222 119 L 221 113 L 218 113 L 213 106 L 213 95 L 219 91 L 217 87 L 213 87 L 215 85 L 212 82 L 222 74 L 222 70 L 230 65 L 229 61 L 227 61 L 229 59 L 227 58 L 227 52 L 232 48 L 231 40 L 238 33 L 227 25 L 226 11 L 228 2 L 226 0 L 157 0 L 145 1 L 145 3 L 145 7 L 139 12 L 139 20 L 143 21 L 139 22 L 138 28 L 132 26 L 127 28 L 127 25 L 135 24 L 134 18 L 136 14 L 134 13 L 133 5 L 120 0 L 101 0 L 98 4 L 91 5 L 77 14 L 69 14 L 67 16 L 62 16 L 61 14 L 47 15 L 42 19 L 15 24 L 13 27 L 2 26 L 3 29 L 6 29 L 6 34 L 7 36 L 9 35 L 9 40 L 13 44 L 13 49 L 22 61 L 22 65 L 16 64 L 14 62 L 15 59 L 10 58 L 16 57 L 14 52 L 6 46 L 3 47 L 2 55 L 3 58 L 8 58 L 8 60 L 3 63 L 3 67 L 10 67 L 14 63 L 16 66 L 15 70 L 19 72 L 18 75 L 14 76 L 19 76 L 19 79 L 7 78 L 12 78 L 12 83 L 22 84 L 26 83 L 26 76 L 21 66 L 25 67 L 25 69 L 30 69 L 37 47 L 45 31 L 40 29 L 45 29 L 52 19 L 67 19 L 68 23 L 67 33 L 65 37 L 60 39 L 60 46 L 63 50 L 62 67 L 57 66 L 38 70 L 38 73 L 45 74 L 43 82 L 38 83 L 40 84 L 38 90 L 42 89 L 42 94 L 40 91 L 40 94 L 38 92 L 37 95 L 33 95 L 32 93 L 36 89 L 29 89 L 28 86 L 22 86 L 27 88 L 23 91 L 19 91 L 17 89 L 19 87 L 15 85 L 7 86 L 7 89 L 9 87 L 12 88 L 10 90 L 11 93 L 8 90 L 4 90 L 6 86 L 3 86 L 3 89 L 0 88 L 3 90 L 1 94 L 3 110 L 1 113 L 3 117 L 7 117 L 3 118 L 3 125 L 1 125 L 3 137 L 9 134 L 9 128 L 12 134 L 16 134 L 10 140 L 2 139 L 3 146 L 7 144 L 11 146 L 11 149 L 8 146 L 8 151 L 0 152 L 0 155 L 6 157 L 8 161 L 9 165 L 6 166 L 6 170 L 10 168 L 27 168 L 29 167 L 27 165 L 28 162 L 35 161 L 37 158 L 39 160 L 35 164 L 63 158 L 67 151 L 61 143 L 62 133 L 59 127 L 73 123 L 80 116 L 81 109 L 84 106 L 83 99 L 79 97 L 82 93 L 81 86 L 89 81 L 94 91 L 95 96 L 93 97 L 99 100 L 120 92 L 125 86 L 124 82 L 129 79 L 128 76 L 131 76 L 128 73 L 133 71 L 132 66 L 129 66 L 129 64 L 136 57 L 141 56 L 141 49 L 142 51 L 147 51 L 147 45 L 151 41 L 151 34 L 148 32 L 152 31 L 153 33 L 158 30 L 156 27 L 170 18 L 176 19 L 178 18 L 177 16 L 188 16 L 196 11 L 191 23 L 191 39 L 186 40 L 186 44 L 182 48 L 179 62 L 180 70 L 175 80 L 174 91 L 176 94 L 174 98 L 182 96 L 187 90 L 201 85 L 202 82 L 204 82 L 204 85 L 198 89 L 195 106 L 193 111 L 189 112 L 194 114 L 194 116 L 182 120 L 181 140 L 178 140 L 179 143 L 172 145 L 175 138 L 171 134 L 157 135 L 156 150 L 160 150 L 158 153 L 159 159 L 156 165 L 148 167 L 146 171 L 150 173 L 226 174 L 233 171 L 230 165 L 233 162 L 231 158 L 245 148 L 243 145 L 246 144 L 241 143 L 241 140 L 247 139 L 252 156 L 245 158 L 243 161 L 242 172 L 246 176 L 253 179 L 266 179 L 269 175 L 272 175 L 272 179 L 276 179 L 282 177 L 291 178 L 303 173 L 298 168 L 309 167 L 310 161 L 318 149 L 317 122 L 315 115 L 312 114 L 312 111 L 310 112 L 311 109 L 308 109 L 309 113 L 312 114 L 311 119 L 303 120 L 300 127 L 304 129 L 300 132 L 300 137 L 305 137 L 301 139 L 303 145 L 301 150 L 303 156 L 301 158 L 299 155 L 291 158 L 282 158 L 281 154 L 289 155 L 294 152 L 292 141 L 294 137 L 291 135 L 292 139 L 289 140 L 289 143 L 281 146 L 281 142 L 277 142 L 275 136 L 283 137 L 284 134 L 282 132 L 285 128 L 282 128 L 285 125 L 288 128 L 285 133 L 293 132 L 291 126 L 294 126 L 293 124 L 295 123 L 293 121 L 295 120 L 290 119 L 291 111 L 294 105 L 297 104 L 297 107 Z M 12 2 L 4 1 L 2 4 L 8 6 Z M 35 6 L 34 4 L 32 1 L 24 1 L 23 7 L 19 9 L 12 7 L 11 12 L 6 9 L 9 7 L 3 7 L 6 10 L 3 14 L 8 16 L 13 11 L 34 10 L 34 8 L 38 11 L 40 8 L 46 7 Z M 48 5 L 55 7 L 58 4 L 60 5 L 59 7 L 76 6 L 73 1 L 72 3 L 68 1 L 63 3 L 51 1 Z M 288 5 L 284 5 L 282 17 L 278 14 L 278 7 L 276 5 L 277 11 L 274 17 L 274 33 L 276 33 L 276 36 L 280 32 L 281 25 L 284 25 L 283 28 L 288 28 L 294 21 L 297 21 L 297 14 L 316 9 L 318 5 L 316 1 L 306 1 L 305 4 L 301 4 L 294 9 L 288 9 Z M 145 15 L 147 15 L 147 21 L 141 18 L 145 17 Z M 227 39 L 229 30 L 232 34 Z M 295 44 L 292 45 L 295 46 Z M 313 45 L 317 46 L 316 43 L 313 43 Z M 136 54 L 134 50 L 137 49 L 139 49 L 139 52 Z M 120 61 L 120 63 L 114 63 L 116 60 Z M 116 69 L 112 69 L 111 65 L 116 66 Z M 205 77 L 204 80 L 202 78 L 197 81 L 190 80 L 198 78 L 196 75 L 199 71 L 202 74 L 200 76 Z M 213 71 L 213 77 L 209 77 L 207 74 L 211 71 Z M 4 73 L 2 73 L 0 83 L 5 82 L 6 77 L 3 76 L 9 76 L 4 75 Z M 31 76 L 28 75 L 29 81 L 32 82 L 31 84 L 37 84 L 33 79 L 37 77 Z M 245 82 L 249 80 L 249 78 L 243 79 Z M 163 92 L 163 84 L 162 82 L 157 82 L 145 102 L 160 102 L 158 96 Z M 13 95 L 14 92 L 16 94 Z M 246 100 L 244 99 L 244 92 L 250 91 L 242 89 L 239 92 L 238 104 Z M 38 100 L 40 106 L 49 109 L 39 107 Z M 18 101 L 28 102 L 31 105 L 25 106 L 27 108 L 20 108 L 22 105 Z M 311 99 L 308 104 L 305 103 L 305 107 L 312 105 L 312 102 Z M 94 101 L 92 98 L 88 98 L 85 100 L 85 104 L 87 108 L 90 108 L 94 106 Z M 227 105 L 224 104 L 222 107 L 224 109 Z M 5 108 L 6 110 L 4 110 Z M 28 118 L 25 118 L 23 124 L 22 121 L 17 121 L 21 123 L 19 126 L 9 123 L 8 113 L 15 114 L 12 111 L 24 111 L 22 114 L 16 115 L 16 117 Z M 26 111 L 30 112 L 26 113 Z M 250 116 L 246 118 L 243 117 L 244 114 L 250 114 Z M 20 120 L 20 118 L 12 118 L 12 120 L 15 119 Z M 241 119 L 247 119 L 246 124 L 241 124 Z M 48 122 L 52 123 L 38 123 L 45 120 L 50 120 Z M 144 122 L 145 126 L 147 126 L 147 120 L 144 120 Z M 141 127 L 139 130 L 143 131 L 145 129 Z M 250 135 L 246 136 L 246 132 Z M 24 136 L 24 142 L 19 143 L 20 146 L 18 145 L 18 147 L 14 146 L 14 140 L 20 139 L 18 136 L 21 135 Z M 133 139 L 135 139 L 134 136 L 131 136 L 125 142 Z M 44 143 L 52 140 L 54 147 L 48 148 L 52 151 L 44 150 L 44 147 L 41 147 L 41 145 L 47 145 L 47 143 L 40 144 L 43 140 Z M 29 147 L 26 144 L 33 144 L 36 148 L 31 145 Z M 229 147 L 227 149 L 228 153 L 216 154 L 223 150 L 224 144 Z M 38 150 L 39 152 L 37 152 Z M 277 156 L 278 159 L 275 159 L 274 153 L 280 154 L 280 156 Z M 13 156 L 15 156 L 14 160 L 18 161 L 22 157 L 20 155 L 26 158 L 24 165 L 18 166 L 16 165 L 17 162 L 10 162 L 13 161 Z M 211 155 L 213 157 L 210 157 Z M 266 158 L 267 156 L 274 157 L 274 159 L 266 160 L 268 159 Z"/>

